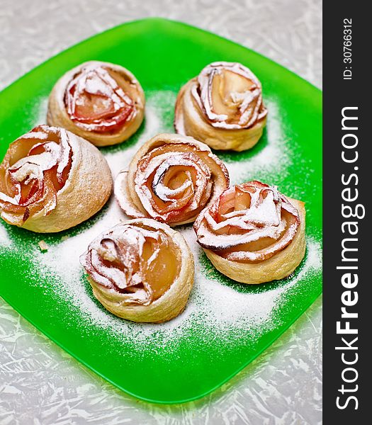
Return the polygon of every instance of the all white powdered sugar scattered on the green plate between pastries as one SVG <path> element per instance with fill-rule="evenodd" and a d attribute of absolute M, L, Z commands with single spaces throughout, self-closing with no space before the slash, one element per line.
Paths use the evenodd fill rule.
<path fill-rule="evenodd" d="M 135 136 L 134 142 L 102 149 L 114 177 L 120 170 L 128 168 L 133 154 L 150 137 L 159 132 L 174 131 L 174 101 L 175 94 L 172 91 L 148 93 L 145 124 Z M 266 169 L 271 176 L 273 170 L 274 173 L 284 173 L 291 161 L 280 125 L 276 123 L 275 106 L 271 103 L 268 106 L 271 116 L 269 142 L 257 155 L 242 162 L 227 163 L 232 183 L 244 181 L 247 170 L 249 174 L 254 174 L 255 170 Z M 43 102 L 43 108 L 45 107 L 46 103 Z M 288 300 L 291 290 L 303 285 L 304 280 L 311 281 L 321 271 L 320 243 L 308 238 L 305 260 L 293 276 L 278 283 L 252 285 L 249 288 L 249 285 L 234 283 L 215 271 L 197 244 L 192 226 L 179 227 L 177 230 L 191 247 L 196 262 L 195 284 L 186 309 L 179 317 L 164 324 L 128 322 L 108 313 L 95 300 L 79 263 L 79 256 L 98 234 L 127 218 L 112 197 L 98 216 L 92 217 L 71 232 L 64 232 L 64 236 L 45 237 L 29 233 L 30 241 L 33 242 L 28 241 L 25 244 L 24 238 L 19 237 L 16 232 L 12 236 L 12 229 L 1 224 L 0 249 L 17 249 L 19 255 L 27 257 L 33 264 L 33 270 L 43 276 L 40 283 L 33 280 L 32 284 L 44 285 L 45 296 L 55 298 L 56 302 L 68 303 L 72 314 L 79 317 L 78 326 L 84 328 L 84 331 L 103 332 L 120 344 L 130 344 L 133 346 L 133 355 L 136 356 L 140 352 L 154 351 L 166 357 L 181 341 L 187 341 L 193 332 L 198 332 L 199 339 L 204 339 L 205 344 L 210 341 L 215 344 L 223 342 L 224 347 L 229 346 L 229 341 L 233 343 L 242 338 L 245 341 L 258 338 L 266 331 L 278 327 L 277 312 L 281 304 Z M 40 251 L 38 241 L 41 239 L 45 239 L 47 251 Z M 76 322 L 75 319 L 74 324 Z"/>

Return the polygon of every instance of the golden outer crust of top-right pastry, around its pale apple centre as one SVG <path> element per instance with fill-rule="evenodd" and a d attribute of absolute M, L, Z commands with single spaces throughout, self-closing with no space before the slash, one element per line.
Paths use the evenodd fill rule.
<path fill-rule="evenodd" d="M 215 123 L 208 117 L 205 111 L 203 100 L 201 100 L 201 81 L 199 80 L 202 73 L 208 67 L 219 69 L 220 67 L 237 67 L 238 71 L 242 68 L 242 73 L 247 73 L 247 78 L 254 81 L 254 87 L 257 96 L 257 111 L 249 123 L 242 125 L 229 125 L 223 120 Z M 181 135 L 188 135 L 201 140 L 213 149 L 227 150 L 232 149 L 241 152 L 252 148 L 259 141 L 264 127 L 266 125 L 267 110 L 261 100 L 261 84 L 257 77 L 252 74 L 246 67 L 241 64 L 230 62 L 214 62 L 205 67 L 199 77 L 195 77 L 188 81 L 181 90 L 176 99 L 174 127 L 176 132 Z M 208 72 L 208 71 L 207 71 Z M 206 84 L 206 83 L 205 83 Z M 211 110 L 213 111 L 213 105 Z M 213 112 L 210 113 L 212 115 Z M 218 125 L 218 127 L 216 127 Z"/>

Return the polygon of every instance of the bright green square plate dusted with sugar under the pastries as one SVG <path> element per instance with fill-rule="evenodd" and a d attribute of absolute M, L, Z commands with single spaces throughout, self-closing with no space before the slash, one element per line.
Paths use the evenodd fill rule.
<path fill-rule="evenodd" d="M 217 152 L 232 183 L 259 179 L 306 202 L 308 250 L 290 278 L 235 283 L 215 271 L 191 226 L 181 228 L 196 258 L 186 310 L 167 324 L 118 319 L 94 300 L 79 255 L 123 215 L 115 202 L 60 234 L 0 223 L 0 295 L 56 344 L 135 397 L 179 403 L 208 394 L 283 333 L 320 295 L 322 237 L 321 99 L 318 89 L 271 60 L 183 23 L 145 19 L 69 48 L 0 93 L 0 154 L 45 122 L 47 96 L 68 69 L 87 60 L 122 64 L 147 98 L 145 122 L 128 142 L 101 149 L 113 174 L 158 132 L 173 132 L 174 101 L 188 79 L 216 60 L 247 65 L 261 79 L 269 108 L 264 136 L 248 152 Z M 73 213 L 73 211 L 72 211 Z M 42 253 L 38 242 L 49 249 Z"/>

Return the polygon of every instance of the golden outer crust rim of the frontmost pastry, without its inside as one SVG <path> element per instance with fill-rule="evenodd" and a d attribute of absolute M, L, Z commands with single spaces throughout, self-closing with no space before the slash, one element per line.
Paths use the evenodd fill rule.
<path fill-rule="evenodd" d="M 141 305 L 138 303 L 128 305 L 126 302 L 128 297 L 125 294 L 118 292 L 115 288 L 107 288 L 100 283 L 97 283 L 91 276 L 89 276 L 88 280 L 93 288 L 94 296 L 108 311 L 118 317 L 123 317 L 123 319 L 132 320 L 133 322 L 167 322 L 168 320 L 178 316 L 186 306 L 188 295 L 190 294 L 193 286 L 193 255 L 181 234 L 179 232 L 175 232 L 164 223 L 142 218 L 122 222 L 113 227 L 113 229 L 126 225 L 146 226 L 147 228 L 160 229 L 164 232 L 164 234 L 166 234 L 176 246 L 176 250 L 179 251 L 177 253 L 179 273 L 174 282 L 171 283 L 169 289 L 162 296 L 157 298 L 157 300 L 150 302 L 149 305 Z M 105 232 L 105 234 L 108 232 Z M 100 237 L 102 236 L 103 235 L 100 235 Z M 89 251 L 87 251 L 87 253 L 88 252 Z M 83 265 L 87 253 L 81 256 L 81 263 L 83 263 Z"/>

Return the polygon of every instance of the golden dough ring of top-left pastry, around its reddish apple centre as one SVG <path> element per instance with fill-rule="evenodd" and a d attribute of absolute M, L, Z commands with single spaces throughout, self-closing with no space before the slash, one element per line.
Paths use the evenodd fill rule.
<path fill-rule="evenodd" d="M 90 70 L 94 71 L 94 69 L 101 69 L 101 71 L 103 69 L 103 75 L 101 76 L 98 73 L 98 77 L 95 76 L 96 80 L 94 81 L 94 84 L 89 86 L 89 93 L 94 92 L 94 94 L 101 94 L 102 92 L 103 94 L 106 94 L 106 89 L 108 88 L 108 96 L 111 96 L 113 93 L 112 89 L 115 89 L 113 86 L 116 83 L 118 87 L 116 87 L 115 90 L 118 92 L 118 90 L 123 89 L 124 94 L 120 92 L 121 95 L 123 95 L 121 98 L 118 98 L 118 93 L 115 92 L 113 94 L 117 101 L 115 108 L 118 108 L 118 104 L 120 105 L 120 102 L 123 103 L 124 106 L 130 106 L 131 108 L 130 112 L 127 114 L 128 116 L 124 118 L 122 125 L 116 126 L 113 130 L 95 131 L 94 123 L 91 124 L 91 129 L 89 129 L 89 124 L 80 124 L 79 121 L 72 120 L 68 113 L 66 96 L 69 85 L 72 81 L 74 81 L 74 79 L 76 79 L 76 77 L 79 76 L 79 73 L 86 72 L 86 70 L 88 70 L 88 72 Z M 108 76 L 104 74 L 106 71 L 108 71 Z M 99 84 L 97 84 L 97 79 L 99 81 L 101 77 L 103 80 L 106 79 L 108 82 L 111 81 L 111 86 L 110 84 L 107 86 L 106 83 L 103 83 L 106 84 L 106 89 L 104 85 L 100 88 Z M 77 84 L 81 83 L 78 82 Z M 100 84 L 102 84 L 102 80 Z M 125 85 L 127 86 L 125 87 Z M 144 115 L 145 94 L 142 86 L 135 76 L 128 69 L 121 67 L 120 65 L 111 64 L 110 62 L 90 61 L 84 62 L 74 69 L 71 69 L 57 81 L 49 97 L 47 123 L 66 128 L 67 130 L 84 137 L 84 139 L 89 140 L 89 142 L 96 146 L 108 146 L 123 142 L 133 135 L 138 128 L 140 128 Z M 100 118 L 98 118 L 98 121 L 99 119 Z M 115 120 L 115 116 L 114 118 L 108 118 L 108 122 L 110 120 Z M 103 125 L 104 124 L 105 120 L 103 119 Z"/>

